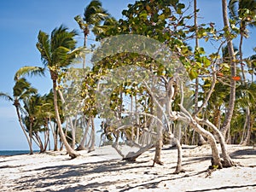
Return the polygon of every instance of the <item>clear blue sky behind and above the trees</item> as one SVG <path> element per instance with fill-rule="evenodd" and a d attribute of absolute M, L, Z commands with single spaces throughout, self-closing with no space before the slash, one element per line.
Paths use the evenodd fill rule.
<path fill-rule="evenodd" d="M 0 1 L 0 91 L 12 94 L 15 72 L 23 66 L 41 66 L 40 55 L 35 44 L 39 30 L 50 33 L 55 27 L 64 24 L 70 29 L 79 27 L 73 17 L 83 15 L 88 0 L 9 0 Z M 134 0 L 102 0 L 102 5 L 115 18 L 121 17 L 121 11 Z M 189 1 L 184 1 L 189 2 Z M 193 5 L 193 4 L 191 4 Z M 198 0 L 201 9 L 199 22 L 216 23 L 223 27 L 221 0 Z M 245 55 L 253 53 L 256 32 L 246 40 Z M 93 38 L 92 36 L 90 38 Z M 82 45 L 82 36 L 78 38 Z M 209 47 L 209 50 L 212 49 Z M 47 78 L 28 79 L 41 94 L 49 91 L 51 82 Z M 15 108 L 10 102 L 0 100 L 0 150 L 28 149 L 26 138 L 20 130 Z"/>

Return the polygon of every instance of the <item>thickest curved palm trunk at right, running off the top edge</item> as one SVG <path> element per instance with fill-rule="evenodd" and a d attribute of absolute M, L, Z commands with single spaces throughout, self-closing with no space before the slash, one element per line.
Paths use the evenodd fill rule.
<path fill-rule="evenodd" d="M 223 20 L 224 20 L 224 28 L 227 30 L 227 32 L 230 32 L 230 23 L 228 18 L 228 12 L 227 12 L 227 1 L 222 0 L 222 12 L 223 12 Z M 228 41 L 228 49 L 229 49 L 229 55 L 230 55 L 230 101 L 229 101 L 229 107 L 227 110 L 227 113 L 225 115 L 224 123 L 222 127 L 220 128 L 221 133 L 223 134 L 224 138 L 226 138 L 226 133 L 230 128 L 230 122 L 232 119 L 233 111 L 235 108 L 235 101 L 236 101 L 236 80 L 233 79 L 233 77 L 236 76 L 236 61 L 235 61 L 235 54 L 234 54 L 234 48 L 232 39 L 230 39 L 230 36 L 227 36 Z"/>

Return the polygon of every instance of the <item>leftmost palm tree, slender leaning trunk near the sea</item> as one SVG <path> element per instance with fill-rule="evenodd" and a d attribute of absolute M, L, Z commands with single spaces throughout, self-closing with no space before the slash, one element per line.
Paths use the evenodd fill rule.
<path fill-rule="evenodd" d="M 17 117 L 20 123 L 20 127 L 23 131 L 23 133 L 26 136 L 27 143 L 29 145 L 30 154 L 33 154 L 32 151 L 32 135 L 31 132 L 29 134 L 29 137 L 26 134 L 26 128 L 24 127 L 20 115 L 20 111 L 23 112 L 24 110 L 20 106 L 20 102 L 23 102 L 27 97 L 32 96 L 36 94 L 38 90 L 31 87 L 31 84 L 26 81 L 26 79 L 17 79 L 15 82 L 15 86 L 13 88 L 13 96 L 10 96 L 7 93 L 0 92 L 0 97 L 3 97 L 4 99 L 7 99 L 10 102 L 13 102 L 13 105 L 16 108 Z"/>

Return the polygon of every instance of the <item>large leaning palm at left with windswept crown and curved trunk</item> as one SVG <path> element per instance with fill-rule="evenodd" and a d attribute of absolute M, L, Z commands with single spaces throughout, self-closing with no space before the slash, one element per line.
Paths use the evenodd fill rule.
<path fill-rule="evenodd" d="M 54 95 L 55 119 L 61 135 L 61 141 L 64 143 L 67 153 L 71 156 L 71 158 L 75 158 L 79 154 L 67 143 L 65 133 L 61 128 L 61 117 L 57 102 L 56 88 L 61 70 L 71 65 L 73 61 L 80 57 L 83 53 L 84 49 L 76 49 L 76 41 L 74 40 L 76 35 L 77 32 L 68 32 L 67 27 L 62 25 L 55 28 L 51 32 L 50 36 L 45 32 L 40 31 L 38 33 L 37 48 L 41 53 L 41 59 L 44 67 L 21 67 L 20 70 L 15 74 L 15 78 L 19 78 L 20 76 L 26 74 L 42 74 L 46 69 L 49 69 Z"/>

